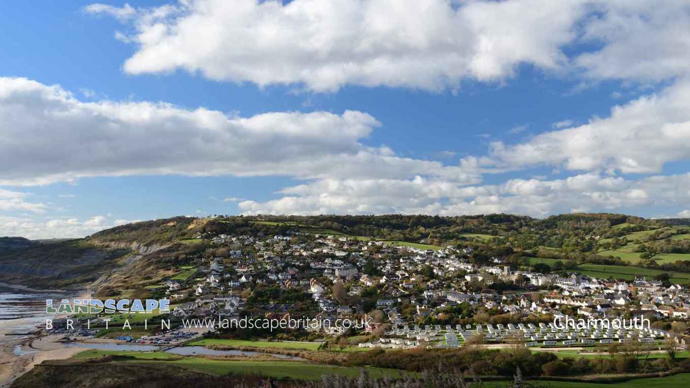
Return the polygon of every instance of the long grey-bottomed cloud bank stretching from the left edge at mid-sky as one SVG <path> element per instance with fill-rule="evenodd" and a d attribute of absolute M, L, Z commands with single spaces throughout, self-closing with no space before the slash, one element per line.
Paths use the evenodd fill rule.
<path fill-rule="evenodd" d="M 363 146 L 380 125 L 353 110 L 240 117 L 147 101 L 83 102 L 60 86 L 0 77 L 0 185 L 141 174 L 479 179 L 468 168 Z"/>

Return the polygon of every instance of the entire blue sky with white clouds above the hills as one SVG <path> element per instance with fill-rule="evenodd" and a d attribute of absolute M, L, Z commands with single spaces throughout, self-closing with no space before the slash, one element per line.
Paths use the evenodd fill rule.
<path fill-rule="evenodd" d="M 0 235 L 214 213 L 690 217 L 687 3 L 384 3 L 3 5 Z"/>

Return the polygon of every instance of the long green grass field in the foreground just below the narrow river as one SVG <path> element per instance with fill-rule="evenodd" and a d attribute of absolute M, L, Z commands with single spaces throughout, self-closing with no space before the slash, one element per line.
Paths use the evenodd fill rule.
<path fill-rule="evenodd" d="M 153 361 L 137 360 L 135 362 Z M 300 380 L 318 380 L 324 374 L 342 374 L 350 378 L 357 378 L 361 371 L 360 368 L 355 367 L 336 367 L 297 361 L 224 361 L 199 357 L 186 357 L 181 360 L 166 362 L 166 364 L 215 376 L 230 373 L 257 374 L 273 378 L 296 378 Z M 382 368 L 366 368 L 366 371 L 375 378 L 383 378 L 384 376 L 398 378 L 405 373 L 396 369 Z"/>

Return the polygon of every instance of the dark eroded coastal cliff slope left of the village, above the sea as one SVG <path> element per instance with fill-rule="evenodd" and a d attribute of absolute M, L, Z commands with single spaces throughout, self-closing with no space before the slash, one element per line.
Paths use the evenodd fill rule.
<path fill-rule="evenodd" d="M 174 217 L 137 222 L 76 240 L 39 243 L 0 238 L 0 282 L 44 289 L 106 289 L 116 295 L 138 293 L 150 279 L 173 273 L 166 259 L 178 254 L 180 239 L 197 235 L 207 222 L 194 221 Z M 12 250 L 1 249 L 3 240 Z"/>

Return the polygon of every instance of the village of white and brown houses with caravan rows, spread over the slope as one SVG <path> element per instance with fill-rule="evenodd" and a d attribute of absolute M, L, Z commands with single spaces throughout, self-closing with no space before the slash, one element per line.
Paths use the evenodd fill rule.
<path fill-rule="evenodd" d="M 370 324 L 361 334 L 374 340 L 360 348 L 453 348 L 477 341 L 573 347 L 668 338 L 685 345 L 682 320 L 690 313 L 690 291 L 679 284 L 511 269 L 501 257 L 482 264 L 473 260 L 471 246 L 425 249 L 299 231 L 197 236 L 205 239 L 213 247 L 184 267 L 188 278 L 152 288 L 164 290 L 176 319 L 249 314 L 336 322 L 364 316 Z M 648 323 L 595 329 L 554 323 L 567 316 Z M 679 322 L 671 327 L 671 320 Z M 355 334 L 337 325 L 309 331 L 319 341 Z"/>

